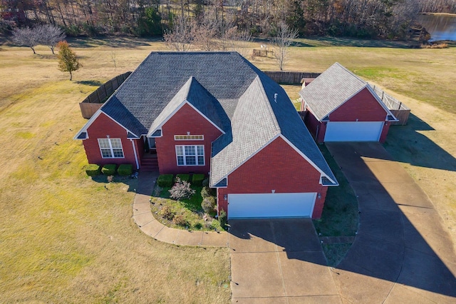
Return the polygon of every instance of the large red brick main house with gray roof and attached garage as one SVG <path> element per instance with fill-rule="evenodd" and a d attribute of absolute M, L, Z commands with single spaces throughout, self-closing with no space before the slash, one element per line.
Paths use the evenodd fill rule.
<path fill-rule="evenodd" d="M 320 218 L 338 186 L 281 86 L 235 52 L 154 52 L 76 139 L 89 163 L 204 173 L 228 218 Z"/>

